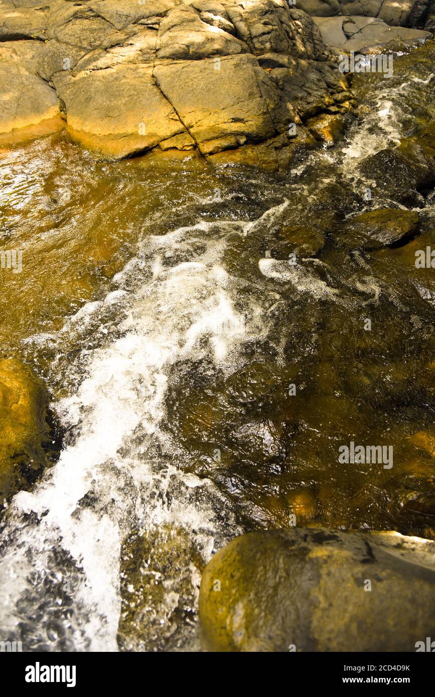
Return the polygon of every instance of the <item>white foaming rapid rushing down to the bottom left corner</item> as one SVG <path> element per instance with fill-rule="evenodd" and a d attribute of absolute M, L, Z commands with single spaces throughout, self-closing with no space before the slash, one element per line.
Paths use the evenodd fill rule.
<path fill-rule="evenodd" d="M 14 634 L 24 620 L 34 649 L 46 648 L 43 635 L 50 634 L 52 611 L 59 603 L 56 594 L 45 593 L 43 616 L 38 627 L 30 626 L 39 590 L 47 585 L 45 576 L 57 574 L 57 585 L 65 588 L 75 608 L 74 613 L 57 613 L 50 650 L 63 647 L 61 638 L 68 634 L 73 650 L 115 651 L 120 549 L 130 529 L 164 523 L 194 529 L 204 560 L 215 539 L 222 542 L 225 527 L 231 535 L 238 532 L 229 512 L 224 524 L 217 520 L 222 504 L 211 482 L 171 464 L 183 459 L 183 452 L 164 428 L 165 394 L 176 362 L 208 355 L 215 365 L 231 370 L 245 332 L 260 330 L 256 308 L 246 312 L 254 322 L 246 327 L 234 307 L 236 288 L 219 264 L 220 240 L 209 241 L 192 261 L 167 263 L 169 250 L 189 252 L 195 239 L 204 242 L 209 227 L 204 223 L 148 241 L 148 250 L 116 278 L 120 289 L 82 308 L 60 332 L 59 346 L 73 330 L 89 331 L 109 305 L 124 317 L 113 343 L 83 356 L 86 376 L 77 392 L 55 405 L 73 434 L 71 443 L 33 492 L 15 496 L 3 530 L 8 545 L 1 595 L 3 606 L 15 607 L 7 629 Z M 148 278 L 138 285 L 137 277 L 144 274 Z M 134 293 L 122 290 L 132 279 L 138 286 Z M 156 486 L 161 496 L 148 498 Z M 197 488 L 208 489 L 208 505 L 204 498 L 201 507 L 195 505 Z M 59 555 L 63 561 L 54 560 Z M 31 588 L 35 565 L 40 577 Z"/>

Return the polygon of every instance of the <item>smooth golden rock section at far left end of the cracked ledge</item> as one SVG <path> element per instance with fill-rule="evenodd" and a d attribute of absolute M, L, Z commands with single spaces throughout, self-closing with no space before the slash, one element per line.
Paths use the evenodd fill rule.
<path fill-rule="evenodd" d="M 63 128 L 54 89 L 32 66 L 40 43 L 0 43 L 0 144 L 16 143 Z"/>

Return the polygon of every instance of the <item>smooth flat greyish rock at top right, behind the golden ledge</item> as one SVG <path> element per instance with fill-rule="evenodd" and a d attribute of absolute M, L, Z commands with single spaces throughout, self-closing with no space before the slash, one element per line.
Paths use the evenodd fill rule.
<path fill-rule="evenodd" d="M 383 46 L 390 41 L 424 41 L 429 38 L 428 31 L 406 29 L 402 26 L 388 26 L 379 17 L 314 17 L 319 25 L 323 41 L 328 46 L 350 52 L 368 52 L 374 47 Z"/>

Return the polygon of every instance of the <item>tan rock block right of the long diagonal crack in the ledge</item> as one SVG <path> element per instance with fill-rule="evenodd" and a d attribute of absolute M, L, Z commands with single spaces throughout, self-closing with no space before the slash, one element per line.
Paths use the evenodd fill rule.
<path fill-rule="evenodd" d="M 155 78 L 204 155 L 270 139 L 298 118 L 250 55 L 159 63 Z M 185 85 L 189 89 L 185 89 Z"/>

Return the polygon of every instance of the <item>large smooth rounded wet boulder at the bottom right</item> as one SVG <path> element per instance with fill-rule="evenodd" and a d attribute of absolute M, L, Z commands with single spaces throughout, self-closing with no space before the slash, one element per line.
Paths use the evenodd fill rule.
<path fill-rule="evenodd" d="M 237 537 L 202 576 L 204 646 L 413 652 L 435 629 L 434 551 L 433 542 L 399 533 L 296 528 Z M 404 613 L 409 603 L 413 612 Z"/>

